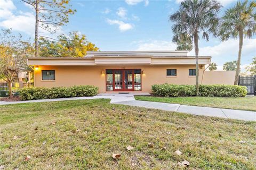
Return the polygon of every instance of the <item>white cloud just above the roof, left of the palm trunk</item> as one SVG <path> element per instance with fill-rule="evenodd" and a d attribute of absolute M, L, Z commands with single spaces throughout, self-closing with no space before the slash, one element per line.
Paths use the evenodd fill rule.
<path fill-rule="evenodd" d="M 175 50 L 177 45 L 172 43 L 172 41 L 162 41 L 162 40 L 147 40 L 147 41 L 133 41 L 132 44 L 137 46 L 138 51 L 143 50 Z"/>

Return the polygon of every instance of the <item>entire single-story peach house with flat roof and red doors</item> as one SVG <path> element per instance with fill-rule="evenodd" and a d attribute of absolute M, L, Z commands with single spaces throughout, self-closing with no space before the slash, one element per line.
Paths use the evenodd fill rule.
<path fill-rule="evenodd" d="M 33 57 L 35 87 L 90 84 L 99 92 L 150 92 L 153 84 L 195 84 L 195 56 L 187 51 L 87 52 L 85 57 Z M 234 71 L 206 71 L 211 56 L 199 56 L 201 84 L 233 84 Z"/>

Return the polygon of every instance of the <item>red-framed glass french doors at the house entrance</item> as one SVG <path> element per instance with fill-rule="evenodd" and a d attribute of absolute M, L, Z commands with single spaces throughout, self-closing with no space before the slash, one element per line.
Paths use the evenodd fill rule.
<path fill-rule="evenodd" d="M 107 91 L 141 91 L 141 69 L 106 70 Z"/>

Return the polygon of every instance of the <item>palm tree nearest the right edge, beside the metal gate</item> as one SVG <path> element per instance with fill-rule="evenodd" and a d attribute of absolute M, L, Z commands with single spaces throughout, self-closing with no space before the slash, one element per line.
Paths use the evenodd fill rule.
<path fill-rule="evenodd" d="M 240 72 L 241 54 L 244 37 L 252 38 L 256 33 L 256 2 L 248 1 L 237 2 L 234 7 L 225 11 L 220 25 L 220 37 L 222 41 L 229 38 L 239 38 L 239 50 L 236 66 L 236 77 L 234 84 L 238 84 L 238 75 Z"/>

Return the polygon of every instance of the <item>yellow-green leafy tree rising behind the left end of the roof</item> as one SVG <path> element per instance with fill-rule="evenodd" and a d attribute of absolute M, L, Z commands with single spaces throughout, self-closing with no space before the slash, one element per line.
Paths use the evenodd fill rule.
<path fill-rule="evenodd" d="M 69 32 L 58 36 L 58 41 L 40 38 L 39 40 L 41 57 L 84 57 L 87 51 L 98 51 L 99 48 L 87 41 L 85 35 L 78 32 Z"/>

